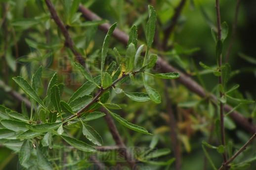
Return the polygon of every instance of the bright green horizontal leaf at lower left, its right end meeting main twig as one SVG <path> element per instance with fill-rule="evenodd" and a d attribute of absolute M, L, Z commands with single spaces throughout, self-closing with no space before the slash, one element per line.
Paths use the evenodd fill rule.
<path fill-rule="evenodd" d="M 27 126 L 30 130 L 35 132 L 50 132 L 54 129 L 59 128 L 65 122 L 57 122 L 57 123 L 43 123 L 37 124 L 33 126 Z"/>

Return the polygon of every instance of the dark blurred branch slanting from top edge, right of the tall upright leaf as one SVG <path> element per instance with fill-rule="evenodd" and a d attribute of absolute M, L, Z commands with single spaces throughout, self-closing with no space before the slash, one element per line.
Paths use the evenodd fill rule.
<path fill-rule="evenodd" d="M 177 24 L 178 18 L 180 16 L 180 13 L 182 11 L 182 8 L 185 5 L 186 0 L 181 0 L 179 5 L 175 8 L 175 13 L 171 18 L 171 25 L 164 31 L 164 39 L 163 39 L 163 49 L 167 50 L 167 45 L 168 45 L 168 39 L 174 29 L 174 27 Z"/>

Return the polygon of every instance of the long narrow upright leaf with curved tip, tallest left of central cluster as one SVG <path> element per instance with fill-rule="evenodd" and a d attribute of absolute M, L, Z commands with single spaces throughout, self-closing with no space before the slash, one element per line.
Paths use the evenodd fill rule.
<path fill-rule="evenodd" d="M 108 44 L 110 41 L 110 37 L 111 37 L 111 34 L 114 32 L 116 26 L 117 26 L 117 23 L 113 24 L 110 27 L 110 29 L 104 39 L 104 42 L 103 42 L 102 51 L 101 51 L 101 75 L 103 75 L 103 69 L 105 66 L 105 59 L 106 59 L 107 53 L 108 53 Z M 101 76 L 101 84 L 103 84 L 103 76 Z"/>

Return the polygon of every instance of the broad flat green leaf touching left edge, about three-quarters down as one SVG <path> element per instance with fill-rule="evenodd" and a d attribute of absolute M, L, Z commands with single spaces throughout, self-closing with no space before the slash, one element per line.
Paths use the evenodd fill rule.
<path fill-rule="evenodd" d="M 25 132 L 28 130 L 28 126 L 30 126 L 28 123 L 17 120 L 1 120 L 1 124 L 5 128 L 15 132 Z"/>

